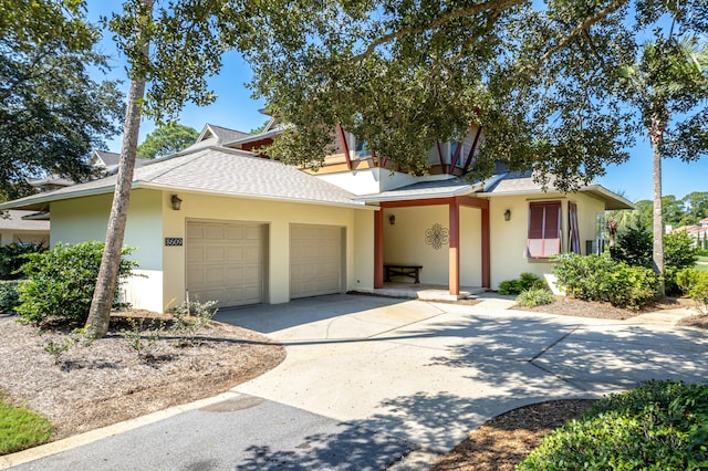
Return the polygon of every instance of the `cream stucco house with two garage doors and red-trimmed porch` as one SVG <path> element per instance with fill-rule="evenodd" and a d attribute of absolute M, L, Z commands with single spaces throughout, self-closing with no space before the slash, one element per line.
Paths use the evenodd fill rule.
<path fill-rule="evenodd" d="M 459 176 L 479 130 L 433 149 L 430 172 L 388 168 L 340 129 L 319 172 L 262 158 L 274 123 L 256 136 L 207 125 L 199 140 L 135 170 L 124 244 L 144 276 L 123 296 L 163 312 L 184 300 L 220 306 L 374 291 L 387 266 L 420 283 L 494 289 L 521 272 L 549 273 L 549 257 L 593 251 L 608 209 L 633 205 L 600 185 L 542 191 L 531 176 Z M 115 176 L 0 205 L 50 211 L 52 243 L 103 240 Z M 409 278 L 394 279 L 413 282 Z"/>

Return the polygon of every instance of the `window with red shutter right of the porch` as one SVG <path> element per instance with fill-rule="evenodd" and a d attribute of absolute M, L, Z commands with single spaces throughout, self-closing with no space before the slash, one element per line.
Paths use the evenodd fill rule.
<path fill-rule="evenodd" d="M 541 259 L 559 253 L 561 253 L 561 202 L 531 202 L 527 239 L 528 257 Z"/>

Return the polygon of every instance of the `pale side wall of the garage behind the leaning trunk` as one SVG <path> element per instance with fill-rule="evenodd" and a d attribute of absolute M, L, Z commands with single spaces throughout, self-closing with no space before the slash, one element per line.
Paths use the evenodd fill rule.
<path fill-rule="evenodd" d="M 52 202 L 52 244 L 104 241 L 112 200 L 112 195 L 98 195 Z M 135 249 L 131 259 L 138 263 L 135 273 L 139 276 L 121 289 L 124 301 L 157 312 L 164 307 L 160 200 L 160 191 L 136 190 L 131 195 L 123 245 Z"/>

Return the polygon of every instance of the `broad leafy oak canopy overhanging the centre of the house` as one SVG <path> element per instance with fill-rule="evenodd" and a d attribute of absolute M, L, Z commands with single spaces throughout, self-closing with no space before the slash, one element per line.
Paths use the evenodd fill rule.
<path fill-rule="evenodd" d="M 618 88 L 618 71 L 635 62 L 644 38 L 667 18 L 681 33 L 708 32 L 702 0 L 299 0 L 242 9 L 238 46 L 254 70 L 252 87 L 292 124 L 271 155 L 316 167 L 341 123 L 377 155 L 421 171 L 437 140 L 459 140 L 475 123 L 485 129 L 477 176 L 502 160 L 552 175 L 561 189 L 626 160 L 624 149 L 645 129 Z"/>

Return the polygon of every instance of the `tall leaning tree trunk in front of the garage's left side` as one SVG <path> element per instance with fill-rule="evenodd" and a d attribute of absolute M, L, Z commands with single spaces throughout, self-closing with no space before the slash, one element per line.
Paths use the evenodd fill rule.
<path fill-rule="evenodd" d="M 152 11 L 153 0 L 143 0 L 147 11 Z M 139 43 L 140 34 L 136 33 Z M 147 56 L 148 42 L 143 44 L 143 53 Z M 106 229 L 106 244 L 101 259 L 101 269 L 96 280 L 96 289 L 91 301 L 91 310 L 86 320 L 86 335 L 101 338 L 108 332 L 111 321 L 111 307 L 115 296 L 115 283 L 121 266 L 123 253 L 123 237 L 128 217 L 131 202 L 131 188 L 133 186 L 133 171 L 135 170 L 135 156 L 137 154 L 137 138 L 140 130 L 140 115 L 143 96 L 145 95 L 145 80 L 132 80 L 128 90 L 127 109 L 125 112 L 125 128 L 123 129 L 123 143 L 121 144 L 121 160 L 116 175 L 115 190 L 111 217 Z"/>

